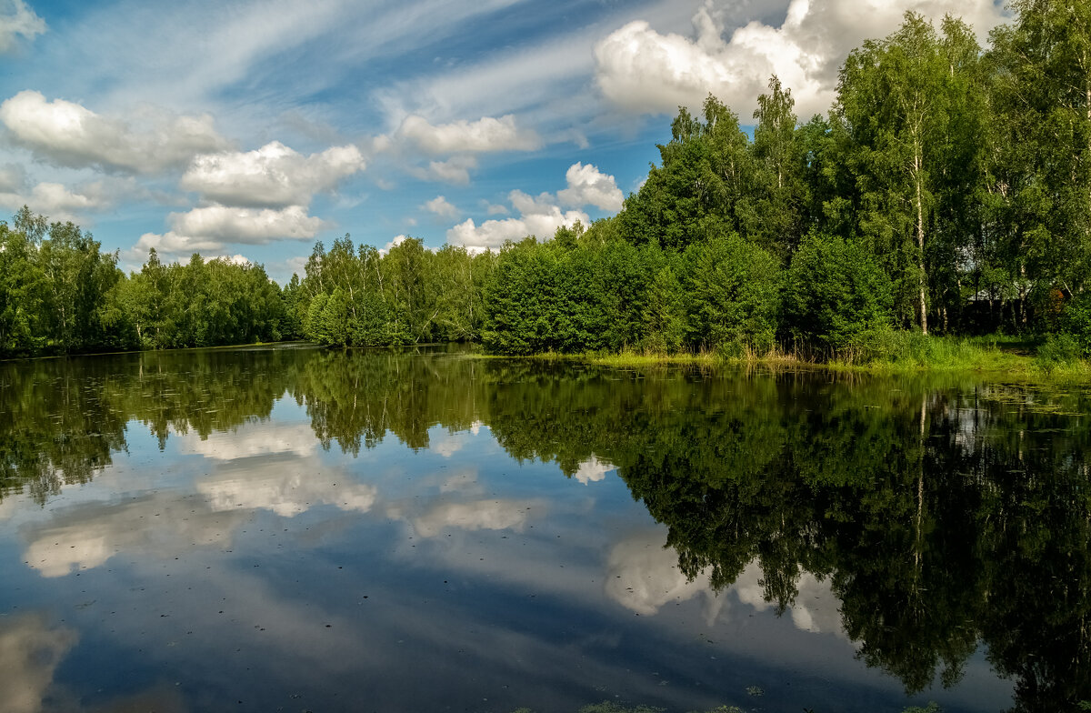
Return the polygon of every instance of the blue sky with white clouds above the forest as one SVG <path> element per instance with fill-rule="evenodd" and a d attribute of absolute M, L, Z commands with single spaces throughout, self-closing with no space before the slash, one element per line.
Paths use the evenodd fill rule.
<path fill-rule="evenodd" d="M 469 250 L 616 213 L 679 106 L 806 120 L 906 10 L 994 0 L 0 0 L 0 217 L 122 269 L 193 252 L 285 283 L 316 240 Z"/>

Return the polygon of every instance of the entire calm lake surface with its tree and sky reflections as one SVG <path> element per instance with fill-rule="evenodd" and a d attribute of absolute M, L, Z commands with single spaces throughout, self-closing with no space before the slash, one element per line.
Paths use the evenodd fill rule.
<path fill-rule="evenodd" d="M 268 348 L 0 364 L 0 711 L 1063 711 L 1091 396 Z"/>

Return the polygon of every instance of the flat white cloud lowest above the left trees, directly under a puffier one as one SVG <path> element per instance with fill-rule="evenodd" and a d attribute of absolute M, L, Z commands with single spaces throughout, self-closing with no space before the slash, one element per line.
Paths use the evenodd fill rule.
<path fill-rule="evenodd" d="M 325 223 L 308 215 L 301 205 L 274 209 L 209 205 L 168 216 L 170 230 L 145 233 L 134 250 L 144 254 L 155 248 L 168 256 L 220 251 L 227 243 L 267 245 L 275 240 L 310 240 Z"/>

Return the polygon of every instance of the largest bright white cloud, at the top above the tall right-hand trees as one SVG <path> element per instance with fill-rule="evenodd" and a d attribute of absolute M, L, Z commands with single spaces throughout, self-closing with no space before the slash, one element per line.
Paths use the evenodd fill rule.
<path fill-rule="evenodd" d="M 635 21 L 600 40 L 596 82 L 608 99 L 631 111 L 673 114 L 680 105 L 698 107 L 711 93 L 748 118 L 777 74 L 805 118 L 829 107 L 849 51 L 897 29 L 907 10 L 937 20 L 961 16 L 982 39 L 1005 20 L 993 0 L 791 0 L 779 27 L 755 21 L 724 39 L 720 12 L 709 0 L 693 19 L 693 38 Z"/>

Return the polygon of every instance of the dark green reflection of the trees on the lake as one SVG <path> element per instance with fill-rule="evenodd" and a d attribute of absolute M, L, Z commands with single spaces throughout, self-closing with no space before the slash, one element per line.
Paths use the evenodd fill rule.
<path fill-rule="evenodd" d="M 304 406 L 322 448 L 488 426 L 518 460 L 610 468 L 686 578 L 752 563 L 767 602 L 828 581 L 870 666 L 910 692 L 984 643 L 1014 710 L 1091 699 L 1086 393 L 820 373 L 623 371 L 457 349 L 197 350 L 0 364 L 0 499 L 85 483 L 146 428 L 206 438 Z"/>

